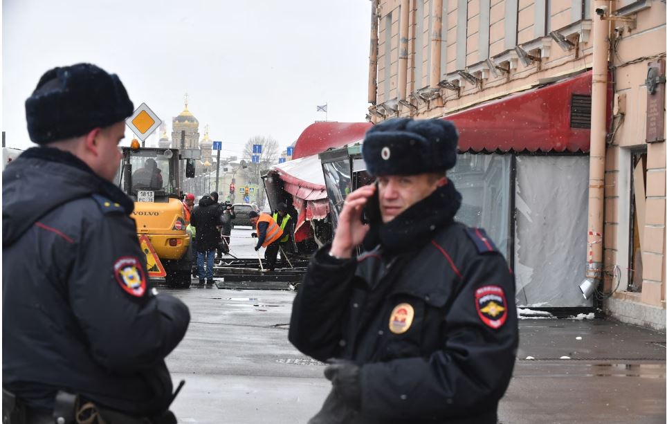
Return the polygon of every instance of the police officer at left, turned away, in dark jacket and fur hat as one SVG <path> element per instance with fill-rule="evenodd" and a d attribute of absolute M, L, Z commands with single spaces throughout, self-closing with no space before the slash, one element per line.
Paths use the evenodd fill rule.
<path fill-rule="evenodd" d="M 112 183 L 133 109 L 91 64 L 51 69 L 26 100 L 39 147 L 2 174 L 3 422 L 176 422 L 165 357 L 190 313 L 152 288 Z"/>

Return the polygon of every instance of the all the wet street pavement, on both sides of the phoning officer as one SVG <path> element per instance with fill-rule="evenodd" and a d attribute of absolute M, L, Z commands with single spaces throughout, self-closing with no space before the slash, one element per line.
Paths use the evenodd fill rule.
<path fill-rule="evenodd" d="M 232 239 L 232 253 L 252 257 L 252 246 Z M 162 291 L 192 314 L 167 358 L 174 382 L 186 380 L 172 406 L 180 423 L 306 423 L 318 411 L 329 382 L 322 365 L 287 340 L 294 292 Z M 664 333 L 607 320 L 531 319 L 520 321 L 520 338 L 500 423 L 665 422 Z"/>

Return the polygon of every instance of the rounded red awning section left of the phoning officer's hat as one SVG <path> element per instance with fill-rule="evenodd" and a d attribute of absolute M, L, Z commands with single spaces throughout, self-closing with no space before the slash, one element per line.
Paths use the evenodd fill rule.
<path fill-rule="evenodd" d="M 292 158 L 319 154 L 331 147 L 343 147 L 362 140 L 372 126 L 370 122 L 315 122 L 296 140 Z"/>

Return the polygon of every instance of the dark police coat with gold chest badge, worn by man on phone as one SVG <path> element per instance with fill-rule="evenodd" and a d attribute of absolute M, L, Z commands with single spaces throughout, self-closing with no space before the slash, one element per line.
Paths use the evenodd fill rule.
<path fill-rule="evenodd" d="M 451 183 L 371 228 L 356 259 L 311 260 L 289 340 L 360 368 L 347 423 L 496 423 L 518 346 L 514 281 L 483 230 L 452 221 Z M 371 242 L 371 243 L 369 243 Z"/>

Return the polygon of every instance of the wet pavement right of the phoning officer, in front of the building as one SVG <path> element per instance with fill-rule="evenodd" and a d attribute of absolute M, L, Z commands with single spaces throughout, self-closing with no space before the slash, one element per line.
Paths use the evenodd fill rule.
<path fill-rule="evenodd" d="M 519 329 L 501 423 L 665 422 L 664 333 L 610 320 L 522 320 Z"/>

